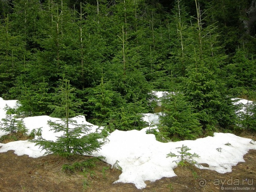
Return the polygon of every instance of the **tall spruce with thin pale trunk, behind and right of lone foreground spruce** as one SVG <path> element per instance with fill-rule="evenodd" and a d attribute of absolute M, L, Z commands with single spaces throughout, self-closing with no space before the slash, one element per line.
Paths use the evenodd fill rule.
<path fill-rule="evenodd" d="M 69 42 L 69 54 L 72 55 L 72 62 L 65 70 L 66 74 L 73 78 L 74 85 L 79 89 L 92 86 L 100 80 L 101 68 L 104 65 L 103 54 L 105 43 L 100 32 L 95 29 L 98 25 L 91 16 L 87 16 L 91 9 L 97 10 L 95 6 L 80 4 L 80 10 L 73 10 Z M 72 72 L 72 73 L 71 73 Z"/>

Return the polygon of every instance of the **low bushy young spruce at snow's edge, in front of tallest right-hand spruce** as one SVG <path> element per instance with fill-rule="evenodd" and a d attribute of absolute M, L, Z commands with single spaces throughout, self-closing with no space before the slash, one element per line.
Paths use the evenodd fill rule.
<path fill-rule="evenodd" d="M 196 139 L 202 134 L 198 114 L 194 113 L 191 103 L 181 93 L 168 93 L 161 99 L 162 113 L 159 130 L 168 132 L 173 140 Z"/>

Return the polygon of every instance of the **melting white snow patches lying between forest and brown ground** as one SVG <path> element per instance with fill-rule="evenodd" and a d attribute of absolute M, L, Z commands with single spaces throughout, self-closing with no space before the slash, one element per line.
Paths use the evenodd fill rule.
<path fill-rule="evenodd" d="M 242 102 L 247 102 L 242 100 Z M 0 98 L 0 118 L 5 117 L 4 107 L 16 107 L 16 100 L 3 100 Z M 73 118 L 78 124 L 89 125 L 94 132 L 98 126 L 88 123 L 84 116 Z M 157 114 L 145 114 L 144 118 L 149 124 L 157 124 Z M 33 129 L 42 129 L 42 137 L 47 140 L 56 140 L 61 133 L 50 131 L 47 121 L 56 121 L 58 118 L 49 116 L 37 116 L 24 118 L 24 124 L 30 133 Z M 243 156 L 250 149 L 256 150 L 256 142 L 249 138 L 241 138 L 230 133 L 214 133 L 214 137 L 199 138 L 197 140 L 186 140 L 179 142 L 161 143 L 156 141 L 153 134 L 146 134 L 144 128 L 141 131 L 118 131 L 115 130 L 109 134 L 106 143 L 102 148 L 94 153 L 94 156 L 104 156 L 105 161 L 112 166 L 119 165 L 122 173 L 115 182 L 134 183 L 138 189 L 146 187 L 145 181 L 154 182 L 162 177 L 176 176 L 174 168 L 176 167 L 177 157 L 168 157 L 172 152 L 176 155 L 182 145 L 191 150 L 190 153 L 196 153 L 200 157 L 194 158 L 197 163 L 207 163 L 209 167 L 200 166 L 200 169 L 214 170 L 219 173 L 232 171 L 232 166 L 239 162 L 244 162 Z M 0 137 L 8 134 L 0 131 Z M 14 150 L 19 156 L 29 155 L 36 158 L 43 156 L 38 146 L 29 141 L 15 141 L 7 144 L 0 143 L 0 152 Z"/>

